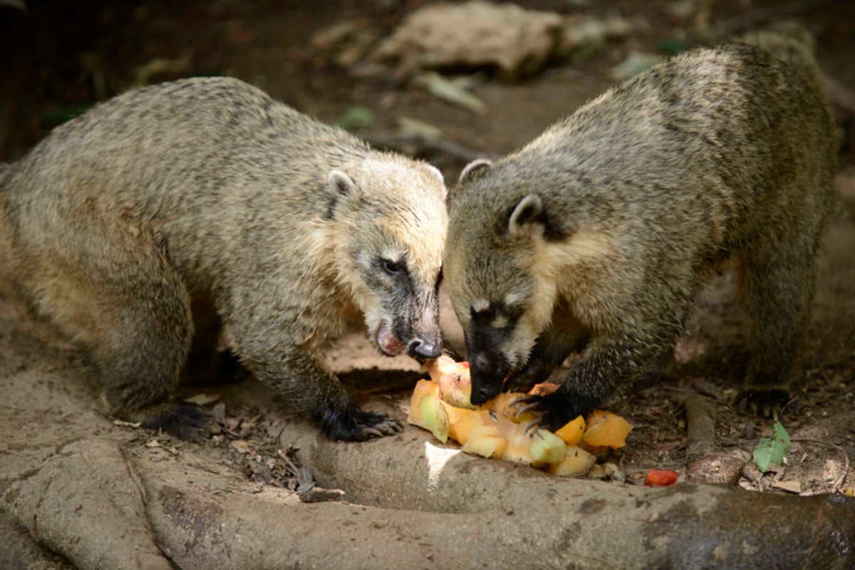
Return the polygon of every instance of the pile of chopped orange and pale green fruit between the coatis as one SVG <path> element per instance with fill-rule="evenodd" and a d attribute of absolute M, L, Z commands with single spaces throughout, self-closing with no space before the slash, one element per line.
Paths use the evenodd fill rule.
<path fill-rule="evenodd" d="M 410 400 L 407 421 L 430 430 L 442 443 L 451 438 L 463 445 L 463 451 L 497 457 L 544 469 L 553 475 L 585 473 L 596 461 L 595 455 L 626 444 L 627 420 L 595 410 L 587 420 L 581 415 L 556 432 L 538 427 L 528 429 L 536 418 L 516 403 L 526 394 L 500 394 L 481 406 L 469 403 L 472 385 L 467 362 L 440 356 L 428 367 L 429 380 L 419 380 Z M 540 384 L 529 393 L 548 393 L 554 384 Z"/>

